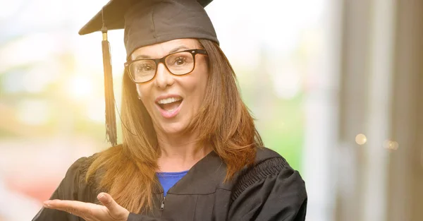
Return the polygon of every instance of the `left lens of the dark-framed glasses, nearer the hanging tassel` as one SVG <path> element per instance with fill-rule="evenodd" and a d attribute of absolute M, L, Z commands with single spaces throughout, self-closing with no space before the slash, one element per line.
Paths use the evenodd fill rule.
<path fill-rule="evenodd" d="M 129 66 L 130 76 L 137 83 L 147 82 L 154 78 L 156 63 L 152 60 L 134 61 Z"/>

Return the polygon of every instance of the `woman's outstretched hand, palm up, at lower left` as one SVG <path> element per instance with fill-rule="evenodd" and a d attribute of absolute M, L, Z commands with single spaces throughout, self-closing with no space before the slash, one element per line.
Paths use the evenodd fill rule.
<path fill-rule="evenodd" d="M 114 201 L 108 193 L 97 196 L 103 205 L 83 203 L 80 201 L 44 201 L 45 208 L 62 210 L 77 215 L 87 221 L 126 221 L 129 211 Z"/>

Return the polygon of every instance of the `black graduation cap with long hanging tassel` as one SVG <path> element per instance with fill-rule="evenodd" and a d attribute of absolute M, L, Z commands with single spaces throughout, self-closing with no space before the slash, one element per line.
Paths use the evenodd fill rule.
<path fill-rule="evenodd" d="M 212 40 L 219 44 L 204 7 L 213 0 L 111 0 L 80 35 L 101 31 L 106 97 L 106 139 L 117 145 L 116 114 L 108 30 L 124 29 L 127 59 L 135 49 L 180 38 Z"/>

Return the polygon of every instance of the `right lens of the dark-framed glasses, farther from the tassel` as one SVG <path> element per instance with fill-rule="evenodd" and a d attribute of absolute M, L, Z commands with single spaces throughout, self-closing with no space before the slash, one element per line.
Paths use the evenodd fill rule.
<path fill-rule="evenodd" d="M 190 52 L 179 52 L 166 57 L 166 66 L 171 73 L 183 75 L 194 68 L 194 56 Z"/>

